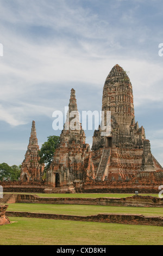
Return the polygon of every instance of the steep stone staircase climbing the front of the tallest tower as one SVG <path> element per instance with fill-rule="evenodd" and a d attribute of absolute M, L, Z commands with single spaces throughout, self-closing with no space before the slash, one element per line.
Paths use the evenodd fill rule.
<path fill-rule="evenodd" d="M 111 153 L 111 148 L 104 148 L 101 156 L 101 160 L 98 165 L 96 180 L 103 180 L 103 176 L 108 163 L 108 159 L 110 157 L 110 153 Z"/>

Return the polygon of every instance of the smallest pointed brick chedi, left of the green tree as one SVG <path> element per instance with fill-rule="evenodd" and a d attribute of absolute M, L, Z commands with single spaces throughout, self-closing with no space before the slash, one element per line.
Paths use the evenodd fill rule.
<path fill-rule="evenodd" d="M 39 145 L 37 142 L 35 122 L 33 121 L 28 149 L 21 165 L 21 181 L 42 180 L 44 165 L 39 163 L 39 159 Z"/>

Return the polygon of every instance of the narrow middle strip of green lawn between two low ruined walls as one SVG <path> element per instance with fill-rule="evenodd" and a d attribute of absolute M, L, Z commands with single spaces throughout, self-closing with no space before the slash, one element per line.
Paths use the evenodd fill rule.
<path fill-rule="evenodd" d="M 98 213 L 129 213 L 146 216 L 162 216 L 163 208 L 123 207 L 101 205 L 47 205 L 47 204 L 9 204 L 8 211 L 54 213 L 61 215 L 97 215 Z"/>

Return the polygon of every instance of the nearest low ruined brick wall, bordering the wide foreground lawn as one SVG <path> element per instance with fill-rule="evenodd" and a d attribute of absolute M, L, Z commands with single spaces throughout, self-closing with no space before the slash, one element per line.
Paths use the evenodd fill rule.
<path fill-rule="evenodd" d="M 74 215 L 55 215 L 48 213 L 31 213 L 31 212 L 7 212 L 8 217 L 24 218 L 42 218 L 58 219 L 62 221 L 83 221 L 83 222 L 103 222 L 119 223 L 130 225 L 156 225 L 163 227 L 162 217 L 152 217 L 143 215 L 122 215 L 122 214 L 99 214 L 92 216 L 74 216 Z"/>

